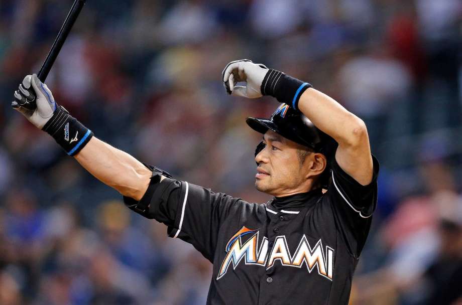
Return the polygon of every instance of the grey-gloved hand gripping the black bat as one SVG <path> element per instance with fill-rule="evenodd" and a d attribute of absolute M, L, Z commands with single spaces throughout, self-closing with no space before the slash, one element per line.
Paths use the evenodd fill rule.
<path fill-rule="evenodd" d="M 40 129 L 50 120 L 57 107 L 50 89 L 39 80 L 37 74 L 24 78 L 19 90 L 15 91 L 11 106 Z"/>

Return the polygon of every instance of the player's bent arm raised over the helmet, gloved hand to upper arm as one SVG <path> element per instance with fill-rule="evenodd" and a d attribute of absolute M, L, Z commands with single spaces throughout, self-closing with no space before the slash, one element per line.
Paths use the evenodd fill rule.
<path fill-rule="evenodd" d="M 320 130 L 338 142 L 335 160 L 362 185 L 373 178 L 373 161 L 365 123 L 308 83 L 250 60 L 230 62 L 222 73 L 228 94 L 257 98 L 271 95 L 300 110 Z M 246 82 L 246 86 L 235 86 Z"/>

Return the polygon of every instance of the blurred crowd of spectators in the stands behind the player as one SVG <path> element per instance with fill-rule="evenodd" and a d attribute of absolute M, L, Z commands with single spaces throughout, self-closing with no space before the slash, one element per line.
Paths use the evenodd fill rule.
<path fill-rule="evenodd" d="M 204 304 L 211 264 L 130 212 L 10 103 L 72 0 L 0 0 L 0 304 Z M 265 202 L 271 98 L 229 97 L 250 58 L 363 118 L 379 205 L 352 304 L 462 304 L 460 0 L 88 0 L 47 84 L 95 135 L 178 179 Z M 289 300 L 288 300 L 289 301 Z"/>

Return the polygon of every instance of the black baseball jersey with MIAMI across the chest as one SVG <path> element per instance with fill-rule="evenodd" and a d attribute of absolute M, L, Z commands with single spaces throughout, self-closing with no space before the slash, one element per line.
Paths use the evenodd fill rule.
<path fill-rule="evenodd" d="M 149 186 L 143 215 L 213 263 L 207 304 L 347 304 L 377 204 L 373 160 L 368 186 L 334 161 L 324 194 L 317 189 L 266 204 L 166 178 Z"/>

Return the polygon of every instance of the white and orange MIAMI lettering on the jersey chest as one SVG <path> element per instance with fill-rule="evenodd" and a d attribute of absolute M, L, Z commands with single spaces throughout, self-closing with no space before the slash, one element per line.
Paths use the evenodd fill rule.
<path fill-rule="evenodd" d="M 291 255 L 284 235 L 276 237 L 273 248 L 270 251 L 268 251 L 268 238 L 266 237 L 263 237 L 260 246 L 257 247 L 258 235 L 258 230 L 251 230 L 244 226 L 229 239 L 225 249 L 226 256 L 221 263 L 217 280 L 226 274 L 231 264 L 236 269 L 243 259 L 246 265 L 260 265 L 267 269 L 273 267 L 277 260 L 283 266 L 296 268 L 306 266 L 309 273 L 316 267 L 319 275 L 332 280 L 334 249 L 326 246 L 324 254 L 320 239 L 311 247 L 305 234 L 303 234 L 297 249 Z M 243 243 L 243 236 L 250 236 L 250 238 Z"/>

